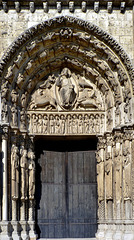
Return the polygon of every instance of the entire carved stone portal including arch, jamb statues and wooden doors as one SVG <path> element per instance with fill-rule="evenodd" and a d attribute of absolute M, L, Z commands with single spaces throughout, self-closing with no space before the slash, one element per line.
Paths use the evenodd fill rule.
<path fill-rule="evenodd" d="M 0 74 L 2 240 L 57 237 L 55 227 L 58 237 L 132 240 L 134 72 L 124 50 L 97 26 L 61 16 L 20 35 Z M 41 136 L 76 139 L 38 152 Z M 76 144 L 83 138 L 97 138 L 96 148 Z"/>

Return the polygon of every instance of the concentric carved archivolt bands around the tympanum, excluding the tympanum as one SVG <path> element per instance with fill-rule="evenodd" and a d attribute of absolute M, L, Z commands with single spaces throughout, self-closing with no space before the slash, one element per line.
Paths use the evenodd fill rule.
<path fill-rule="evenodd" d="M 110 129 L 132 122 L 133 69 L 127 54 L 97 26 L 68 16 L 28 29 L 3 56 L 1 88 L 8 112 L 15 111 L 14 104 L 27 110 L 37 84 L 65 66 L 96 86 Z"/>

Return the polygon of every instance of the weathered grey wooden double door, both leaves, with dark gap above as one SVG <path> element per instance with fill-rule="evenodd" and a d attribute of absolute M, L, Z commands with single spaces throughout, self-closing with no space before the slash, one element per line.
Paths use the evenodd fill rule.
<path fill-rule="evenodd" d="M 83 149 L 80 143 L 59 141 L 56 147 L 50 142 L 50 149 L 45 142 L 38 144 L 36 221 L 40 238 L 95 237 L 95 151 L 85 149 L 85 145 Z"/>

